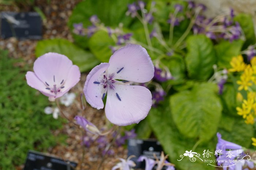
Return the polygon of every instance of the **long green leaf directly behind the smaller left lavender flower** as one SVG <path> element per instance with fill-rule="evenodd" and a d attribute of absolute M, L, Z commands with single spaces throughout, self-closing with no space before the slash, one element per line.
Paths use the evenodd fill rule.
<path fill-rule="evenodd" d="M 39 41 L 35 48 L 35 55 L 39 57 L 47 52 L 57 52 L 67 56 L 72 60 L 73 64 L 79 67 L 81 72 L 89 71 L 91 68 L 99 64 L 99 60 L 97 60 L 93 54 L 82 50 L 65 39 Z"/>

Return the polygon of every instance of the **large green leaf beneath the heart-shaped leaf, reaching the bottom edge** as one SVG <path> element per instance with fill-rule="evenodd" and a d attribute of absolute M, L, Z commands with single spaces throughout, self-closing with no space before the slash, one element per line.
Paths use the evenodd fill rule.
<path fill-rule="evenodd" d="M 181 159 L 180 155 L 183 155 L 185 151 L 192 150 L 197 141 L 191 138 L 186 138 L 184 135 L 179 133 L 173 122 L 172 112 L 170 111 L 168 101 L 166 101 L 166 103 L 163 105 L 159 105 L 157 108 L 151 108 L 148 117 L 154 134 L 163 146 L 165 153 L 169 154 L 170 162 L 175 164 L 176 169 L 214 170 L 213 166 L 207 165 L 207 163 L 200 161 L 198 158 L 195 162 L 191 162 L 188 157 L 183 158 L 181 161 L 177 161 Z M 208 149 L 214 153 L 215 146 L 216 137 L 210 142 L 200 143 L 199 146 L 197 146 L 196 149 L 192 151 L 202 155 L 204 149 Z M 200 158 L 204 159 L 203 157 Z M 211 157 L 206 159 L 214 160 L 215 157 L 214 155 L 211 155 Z"/>

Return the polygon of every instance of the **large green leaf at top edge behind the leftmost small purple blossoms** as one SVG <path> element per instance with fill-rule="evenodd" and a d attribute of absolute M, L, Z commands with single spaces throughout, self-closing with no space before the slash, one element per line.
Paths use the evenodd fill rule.
<path fill-rule="evenodd" d="M 97 15 L 107 26 L 116 27 L 119 23 L 128 26 L 132 18 L 125 15 L 128 4 L 133 0 L 86 0 L 78 3 L 69 18 L 68 26 L 72 30 L 73 24 L 83 23 L 84 27 L 91 25 L 90 17 Z M 88 47 L 88 37 L 74 35 L 75 42 L 81 47 Z"/>

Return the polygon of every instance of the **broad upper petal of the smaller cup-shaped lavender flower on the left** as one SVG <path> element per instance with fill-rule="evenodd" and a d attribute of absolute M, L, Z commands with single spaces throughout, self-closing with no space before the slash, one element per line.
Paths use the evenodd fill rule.
<path fill-rule="evenodd" d="M 67 56 L 49 52 L 35 60 L 33 70 L 42 82 L 53 86 L 67 79 L 71 66 L 72 61 Z"/>

